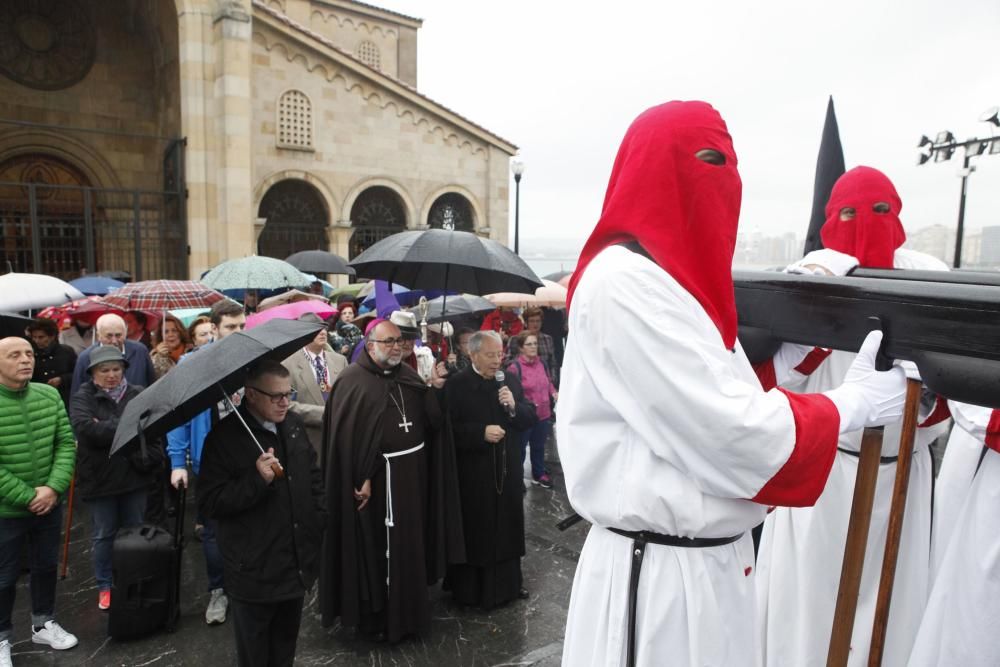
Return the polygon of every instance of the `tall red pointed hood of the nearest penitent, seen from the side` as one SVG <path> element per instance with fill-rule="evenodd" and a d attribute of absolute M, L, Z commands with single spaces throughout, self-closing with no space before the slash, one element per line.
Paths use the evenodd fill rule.
<path fill-rule="evenodd" d="M 711 148 L 724 165 L 695 153 Z M 742 184 L 733 141 L 705 102 L 667 102 L 632 123 L 611 171 L 604 208 L 569 285 L 604 248 L 637 241 L 694 298 L 727 348 L 736 342 L 732 263 Z"/>

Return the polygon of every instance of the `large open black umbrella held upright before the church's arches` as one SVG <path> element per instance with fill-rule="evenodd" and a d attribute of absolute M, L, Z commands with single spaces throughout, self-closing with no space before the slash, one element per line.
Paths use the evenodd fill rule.
<path fill-rule="evenodd" d="M 470 232 L 428 229 L 388 236 L 351 260 L 358 276 L 412 289 L 469 294 L 534 292 L 542 286 L 524 260 Z"/>

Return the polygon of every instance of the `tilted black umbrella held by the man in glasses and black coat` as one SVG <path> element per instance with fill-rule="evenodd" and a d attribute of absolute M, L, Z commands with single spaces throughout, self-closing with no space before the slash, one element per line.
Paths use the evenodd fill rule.
<path fill-rule="evenodd" d="M 146 438 L 158 438 L 187 423 L 242 387 L 255 362 L 287 358 L 324 326 L 274 319 L 202 348 L 125 406 L 110 453 L 138 440 L 140 428 Z"/>

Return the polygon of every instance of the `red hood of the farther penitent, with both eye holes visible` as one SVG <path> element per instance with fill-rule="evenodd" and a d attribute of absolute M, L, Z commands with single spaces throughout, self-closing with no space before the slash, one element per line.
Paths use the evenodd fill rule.
<path fill-rule="evenodd" d="M 888 204 L 889 210 L 876 211 L 880 203 Z M 853 220 L 840 219 L 844 208 L 854 209 Z M 871 167 L 855 167 L 833 186 L 820 238 L 827 248 L 856 257 L 861 266 L 891 269 L 896 248 L 906 241 L 899 222 L 902 208 L 888 176 Z"/>

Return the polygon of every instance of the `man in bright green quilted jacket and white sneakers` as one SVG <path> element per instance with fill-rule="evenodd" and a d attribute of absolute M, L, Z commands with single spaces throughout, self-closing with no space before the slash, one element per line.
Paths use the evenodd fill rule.
<path fill-rule="evenodd" d="M 73 648 L 53 618 L 62 506 L 76 461 L 69 417 L 54 387 L 31 382 L 35 355 L 23 338 L 0 339 L 0 667 L 9 667 L 11 614 L 21 549 L 31 544 L 31 641 Z"/>

